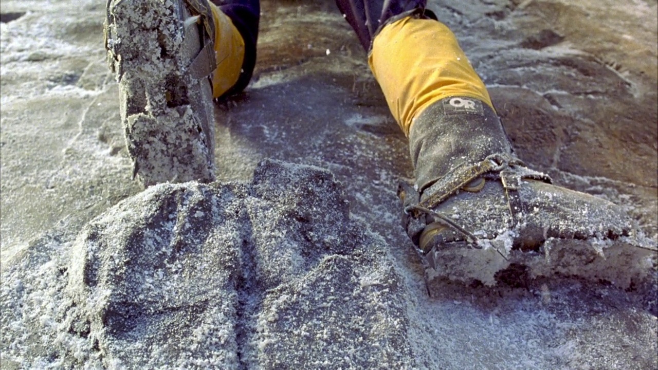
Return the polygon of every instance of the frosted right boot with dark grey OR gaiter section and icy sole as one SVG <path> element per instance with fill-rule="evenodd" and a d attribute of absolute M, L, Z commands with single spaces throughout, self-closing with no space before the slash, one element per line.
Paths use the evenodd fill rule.
<path fill-rule="evenodd" d="M 403 226 L 430 273 L 495 283 L 519 263 L 531 275 L 584 275 L 621 286 L 647 272 L 617 205 L 554 186 L 514 154 L 493 109 L 449 97 L 409 132 L 416 184 L 401 184 Z M 540 257 L 540 258 L 537 258 Z"/>

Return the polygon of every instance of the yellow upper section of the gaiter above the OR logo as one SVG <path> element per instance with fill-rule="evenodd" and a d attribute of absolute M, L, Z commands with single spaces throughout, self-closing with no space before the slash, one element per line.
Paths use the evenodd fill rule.
<path fill-rule="evenodd" d="M 436 20 L 406 17 L 384 27 L 372 43 L 368 65 L 407 136 L 415 117 L 445 97 L 472 97 L 493 108 L 457 38 Z"/>

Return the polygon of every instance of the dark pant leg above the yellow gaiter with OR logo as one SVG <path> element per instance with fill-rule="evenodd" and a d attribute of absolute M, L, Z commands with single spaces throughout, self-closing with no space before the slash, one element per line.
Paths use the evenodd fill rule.
<path fill-rule="evenodd" d="M 405 13 L 421 13 L 436 19 L 432 11 L 425 9 L 427 0 L 336 0 L 338 9 L 355 30 L 361 45 L 370 50 L 372 39 L 387 21 Z"/>

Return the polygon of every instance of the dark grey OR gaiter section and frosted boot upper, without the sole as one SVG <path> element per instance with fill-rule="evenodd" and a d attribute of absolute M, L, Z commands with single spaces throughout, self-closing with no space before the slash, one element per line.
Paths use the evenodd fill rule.
<path fill-rule="evenodd" d="M 447 243 L 508 232 L 508 248 L 534 250 L 547 238 L 614 239 L 632 230 L 617 205 L 553 186 L 546 174 L 525 167 L 482 101 L 449 97 L 430 105 L 411 126 L 409 147 L 420 196 L 407 211 L 425 215 L 430 225 L 410 236 L 423 251 L 438 236 Z M 435 220 L 434 213 L 459 219 L 455 223 L 470 231 Z"/>

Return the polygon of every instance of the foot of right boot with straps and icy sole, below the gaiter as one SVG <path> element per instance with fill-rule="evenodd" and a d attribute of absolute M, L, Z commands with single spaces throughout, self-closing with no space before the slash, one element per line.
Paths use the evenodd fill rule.
<path fill-rule="evenodd" d="M 425 192 L 432 196 L 401 182 L 403 226 L 426 282 L 493 286 L 500 271 L 519 266 L 530 278 L 580 277 L 620 288 L 649 275 L 655 241 L 620 207 L 549 180 L 513 157 L 492 155 L 444 176 Z"/>

